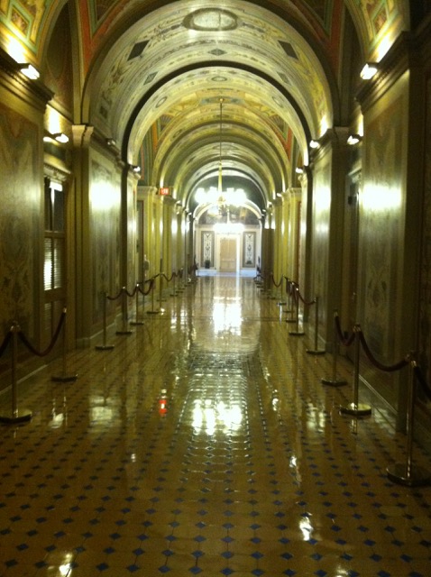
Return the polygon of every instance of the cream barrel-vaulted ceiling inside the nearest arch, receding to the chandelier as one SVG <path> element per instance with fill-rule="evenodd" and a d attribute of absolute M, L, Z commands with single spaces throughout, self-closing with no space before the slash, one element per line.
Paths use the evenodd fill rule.
<path fill-rule="evenodd" d="M 262 6 L 179 1 L 128 23 L 101 51 L 85 112 L 133 165 L 146 142 L 146 182 L 185 205 L 202 179 L 216 179 L 222 138 L 224 171 L 251 180 L 263 207 L 292 185 L 293 151 L 307 162 L 309 139 L 333 124 L 335 75 L 322 57 Z"/>

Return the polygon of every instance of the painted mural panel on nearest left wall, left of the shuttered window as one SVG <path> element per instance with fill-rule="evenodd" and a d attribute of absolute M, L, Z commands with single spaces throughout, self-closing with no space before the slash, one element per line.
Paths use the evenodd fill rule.
<path fill-rule="evenodd" d="M 38 127 L 0 104 L 0 323 L 5 334 L 17 320 L 27 336 L 36 330 L 34 311 L 41 283 L 41 181 Z"/>

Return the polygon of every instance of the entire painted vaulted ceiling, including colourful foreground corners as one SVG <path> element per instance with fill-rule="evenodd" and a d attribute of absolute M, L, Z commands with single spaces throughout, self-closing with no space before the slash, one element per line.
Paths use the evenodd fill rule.
<path fill-rule="evenodd" d="M 73 123 L 115 139 L 124 161 L 142 164 L 145 184 L 170 186 L 185 204 L 202 180 L 216 179 L 220 99 L 224 167 L 267 201 L 294 186 L 309 139 L 346 122 L 339 96 L 345 42 L 353 42 L 357 62 L 380 60 L 408 29 L 401 0 L 70 4 L 80 42 Z M 14 57 L 18 40 L 43 70 L 66 5 L 0 0 L 2 48 Z M 353 39 L 344 37 L 346 19 Z"/>

